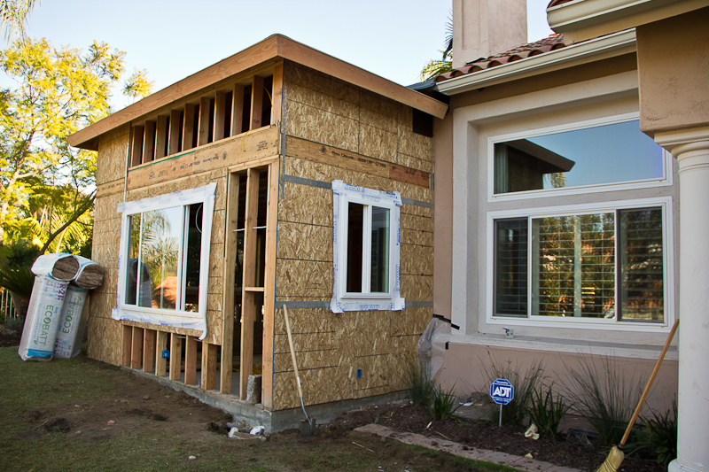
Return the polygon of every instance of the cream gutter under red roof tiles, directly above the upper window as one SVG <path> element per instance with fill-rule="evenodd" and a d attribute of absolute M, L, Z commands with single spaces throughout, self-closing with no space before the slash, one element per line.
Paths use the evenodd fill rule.
<path fill-rule="evenodd" d="M 560 50 L 545 52 L 539 56 L 466 74 L 456 79 L 442 81 L 438 83 L 437 88 L 446 95 L 456 95 L 482 87 L 490 87 L 604 58 L 620 56 L 635 52 L 635 50 L 635 29 L 630 29 L 586 43 L 573 44 Z"/>

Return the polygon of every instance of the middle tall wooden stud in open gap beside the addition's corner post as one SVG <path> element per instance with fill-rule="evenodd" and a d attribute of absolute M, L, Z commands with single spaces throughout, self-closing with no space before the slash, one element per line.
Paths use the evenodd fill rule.
<path fill-rule="evenodd" d="M 259 212 L 259 175 L 256 169 L 246 171 L 246 208 L 244 231 L 243 287 L 253 287 L 256 282 L 256 226 Z M 239 365 L 239 398 L 246 399 L 246 386 L 253 370 L 253 311 L 254 293 L 241 293 L 241 362 Z"/>

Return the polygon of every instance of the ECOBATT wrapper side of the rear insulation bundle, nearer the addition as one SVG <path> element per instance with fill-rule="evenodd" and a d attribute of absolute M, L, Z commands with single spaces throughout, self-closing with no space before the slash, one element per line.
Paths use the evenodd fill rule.
<path fill-rule="evenodd" d="M 87 313 L 84 312 L 89 290 L 69 285 L 58 322 L 57 339 L 54 342 L 54 357 L 69 359 L 81 352 L 83 331 Z"/>

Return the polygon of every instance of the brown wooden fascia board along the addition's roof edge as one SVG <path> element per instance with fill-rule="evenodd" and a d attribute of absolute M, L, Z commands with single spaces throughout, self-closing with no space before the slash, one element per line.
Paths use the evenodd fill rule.
<path fill-rule="evenodd" d="M 93 125 L 77 131 L 69 136 L 69 144 L 97 151 L 97 137 L 118 128 L 121 125 L 137 120 L 159 108 L 172 104 L 180 98 L 187 97 L 214 83 L 228 79 L 230 76 L 242 73 L 247 69 L 259 66 L 272 59 L 288 59 L 303 66 L 316 69 L 353 85 L 368 89 L 378 95 L 391 98 L 402 104 L 407 104 L 417 110 L 429 113 L 437 118 L 443 118 L 448 105 L 440 103 L 415 90 L 407 89 L 393 81 L 388 81 L 378 75 L 371 74 L 357 66 L 333 58 L 305 44 L 297 43 L 283 35 L 271 35 L 261 43 L 225 58 L 213 66 L 206 67 L 196 74 L 178 81 L 166 89 L 155 92 L 143 100 L 115 112 Z"/>

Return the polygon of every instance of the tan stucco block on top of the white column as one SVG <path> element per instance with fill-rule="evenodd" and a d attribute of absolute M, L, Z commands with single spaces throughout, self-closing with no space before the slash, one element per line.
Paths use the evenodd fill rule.
<path fill-rule="evenodd" d="M 637 27 L 640 128 L 709 126 L 709 7 Z"/>

